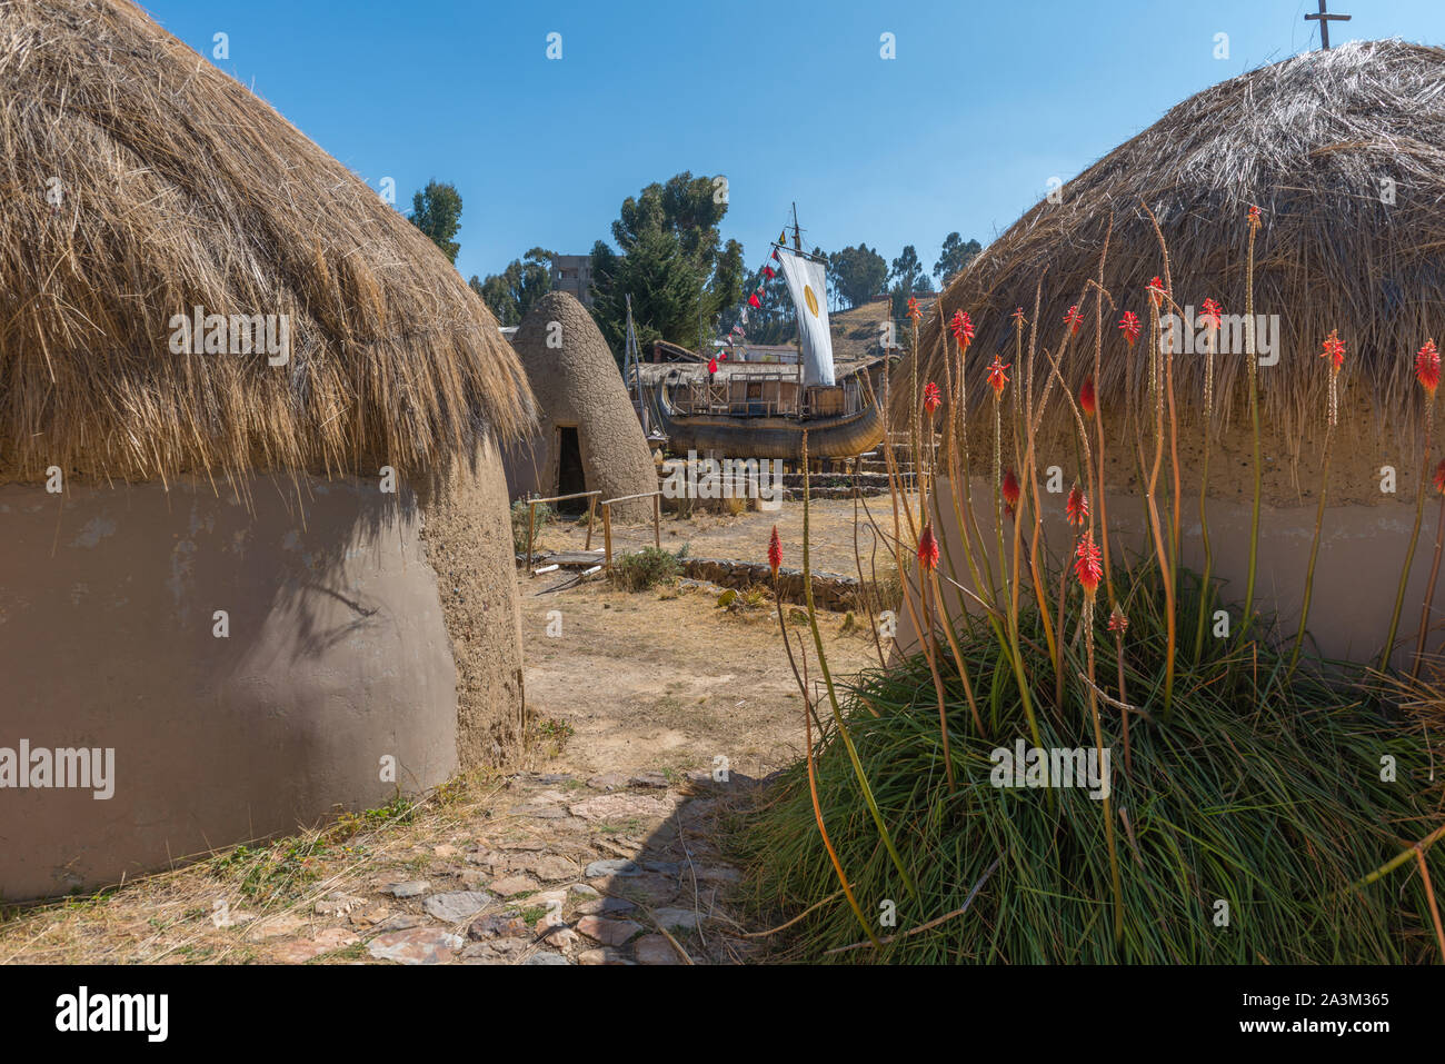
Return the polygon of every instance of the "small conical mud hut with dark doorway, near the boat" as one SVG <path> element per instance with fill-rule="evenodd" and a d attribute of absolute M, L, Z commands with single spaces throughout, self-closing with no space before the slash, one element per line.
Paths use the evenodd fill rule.
<path fill-rule="evenodd" d="M 507 450 L 513 497 L 601 492 L 601 500 L 657 490 L 642 422 L 592 315 L 566 292 L 549 292 L 512 338 L 538 399 L 539 431 Z M 644 520 L 652 500 L 613 507 Z"/>

